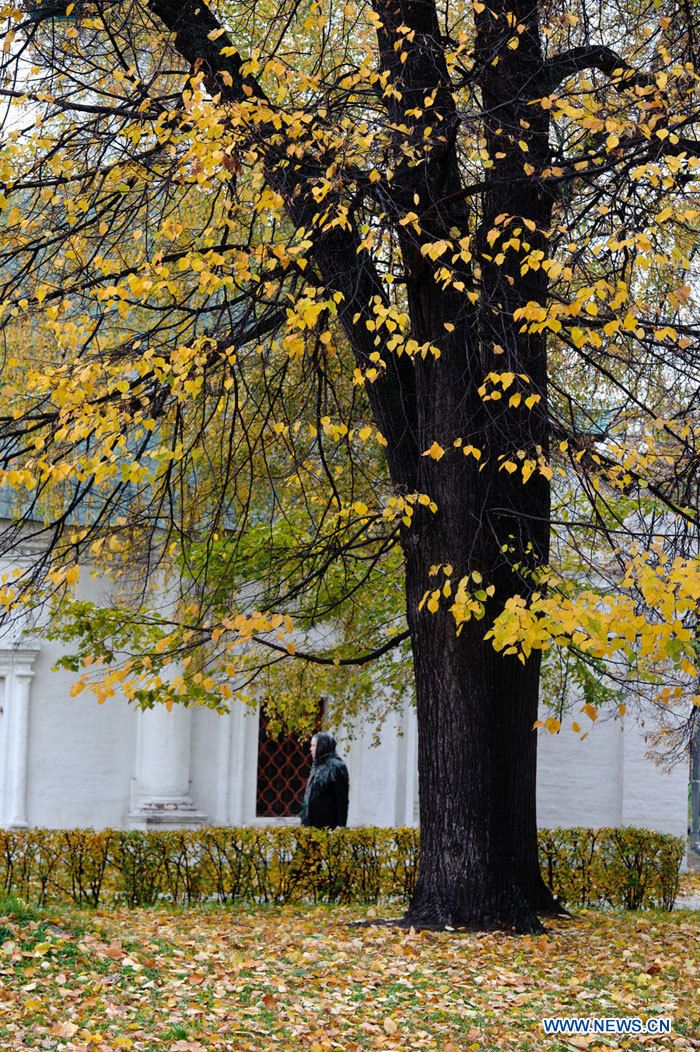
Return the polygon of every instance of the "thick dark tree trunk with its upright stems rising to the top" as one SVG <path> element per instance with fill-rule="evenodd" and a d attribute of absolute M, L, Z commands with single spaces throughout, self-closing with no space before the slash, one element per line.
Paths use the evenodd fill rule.
<path fill-rule="evenodd" d="M 411 24 L 418 25 L 422 17 L 431 32 L 425 15 L 429 7 L 418 2 L 412 6 Z M 476 315 L 468 316 L 463 299 L 452 289 L 436 286 L 429 267 L 415 248 L 412 251 L 408 237 L 402 244 L 414 332 L 419 342 L 437 343 L 442 349 L 438 363 L 416 362 L 419 449 L 437 440 L 446 450 L 438 464 L 428 461 L 423 467 L 423 461 L 418 470 L 418 489 L 438 504 L 436 520 L 422 527 L 416 521 L 404 545 L 421 820 L 420 874 L 406 922 L 532 931 L 539 928 L 536 912 L 557 910 L 541 878 L 537 849 L 533 725 L 539 659 L 531 656 L 523 666 L 496 654 L 483 642 L 487 621 L 463 625 L 457 636 L 445 610 L 448 603 L 436 613 L 417 609 L 431 588 L 431 566 L 448 563 L 454 580 L 478 570 L 484 583 L 494 584 L 491 620 L 509 596 L 528 596 L 538 587 L 533 574 L 548 560 L 549 485 L 540 471 L 548 456 L 546 340 L 520 332 L 514 319 L 518 307 L 546 298 L 544 270 L 525 268 L 523 274 L 521 268 L 532 249 L 546 249 L 544 231 L 552 222 L 552 195 L 544 185 L 534 189 L 532 180 L 523 178 L 524 164 L 544 167 L 548 161 L 548 120 L 540 107 L 528 105 L 542 62 L 537 7 L 524 3 L 517 11 L 527 32 L 515 50 L 506 46 L 512 8 L 489 5 L 477 24 L 493 178 L 483 195 L 477 234 L 481 298 Z M 404 18 L 406 11 L 401 7 Z M 386 8 L 382 18 L 387 25 Z M 492 63 L 495 55 L 498 64 Z M 465 231 L 468 217 L 457 193 L 455 151 L 441 159 L 439 173 L 427 165 L 424 179 L 418 199 L 429 204 L 422 220 L 425 240 L 448 238 L 455 228 Z M 445 207 L 443 200 L 460 203 Z M 494 247 L 489 232 L 499 226 L 504 241 L 519 236 L 520 244 L 497 259 L 500 246 Z M 463 280 L 467 287 L 474 280 L 469 267 L 464 267 Z M 444 323 L 456 321 L 453 338 L 445 338 Z M 507 398 L 481 401 L 476 391 L 488 372 L 528 378 L 520 407 L 507 406 Z M 524 400 L 533 393 L 540 401 L 528 408 Z M 455 453 L 456 438 L 482 448 L 478 468 L 471 458 L 465 463 Z M 526 482 L 518 456 L 538 464 Z M 516 460 L 518 471 L 503 470 L 504 460 Z M 438 574 L 433 587 L 440 583 Z"/>

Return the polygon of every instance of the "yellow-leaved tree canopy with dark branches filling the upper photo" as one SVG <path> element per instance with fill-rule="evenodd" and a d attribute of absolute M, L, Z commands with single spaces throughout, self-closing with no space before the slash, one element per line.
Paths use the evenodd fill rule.
<path fill-rule="evenodd" d="M 587 720 L 693 696 L 694 3 L 4 14 L 11 614 L 49 594 L 81 683 L 142 704 L 262 675 L 289 715 L 293 659 L 352 710 L 409 648 L 433 811 L 532 767 L 543 652 Z"/>

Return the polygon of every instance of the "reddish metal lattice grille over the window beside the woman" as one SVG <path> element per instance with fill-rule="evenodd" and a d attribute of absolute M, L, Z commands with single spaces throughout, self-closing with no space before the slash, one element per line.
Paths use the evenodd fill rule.
<path fill-rule="evenodd" d="M 308 742 L 292 734 L 271 737 L 267 719 L 261 712 L 256 815 L 259 818 L 283 818 L 299 814 L 309 770 Z"/>

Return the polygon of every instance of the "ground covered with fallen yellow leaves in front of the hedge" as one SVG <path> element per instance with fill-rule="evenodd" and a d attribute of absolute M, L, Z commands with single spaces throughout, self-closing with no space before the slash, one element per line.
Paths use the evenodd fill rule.
<path fill-rule="evenodd" d="M 0 915 L 0 1050 L 700 1048 L 697 911 L 587 912 L 540 937 L 352 926 L 367 912 L 20 907 Z M 558 1014 L 671 1015 L 674 1033 L 545 1036 Z"/>

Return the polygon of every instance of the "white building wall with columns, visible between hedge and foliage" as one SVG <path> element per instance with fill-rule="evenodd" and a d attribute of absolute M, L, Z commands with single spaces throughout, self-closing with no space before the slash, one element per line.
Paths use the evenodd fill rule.
<path fill-rule="evenodd" d="M 238 704 L 141 712 L 71 697 L 52 671 L 59 644 L 32 636 L 0 649 L 0 826 L 146 828 L 294 822 L 305 748 L 275 745 L 258 712 Z M 599 721 L 584 742 L 540 732 L 539 821 L 552 826 L 645 826 L 686 833 L 688 771 L 645 755 L 644 728 Z M 339 752 L 351 775 L 352 825 L 417 822 L 416 720 L 407 709 L 378 747 L 359 729 Z M 277 816 L 272 816 L 276 814 Z"/>

